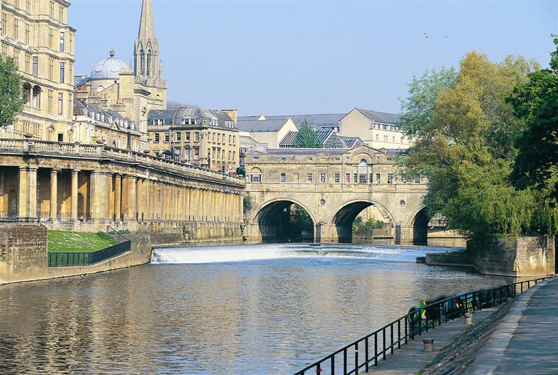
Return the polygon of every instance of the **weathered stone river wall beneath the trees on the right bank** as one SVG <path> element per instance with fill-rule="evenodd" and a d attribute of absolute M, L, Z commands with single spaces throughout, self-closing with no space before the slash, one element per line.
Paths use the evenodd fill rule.
<path fill-rule="evenodd" d="M 533 277 L 555 273 L 555 241 L 551 235 L 469 240 L 467 252 L 483 274 Z"/>

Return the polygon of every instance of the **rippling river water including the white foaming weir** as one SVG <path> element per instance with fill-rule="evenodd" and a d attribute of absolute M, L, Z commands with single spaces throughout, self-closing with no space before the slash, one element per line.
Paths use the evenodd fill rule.
<path fill-rule="evenodd" d="M 421 297 L 506 284 L 415 263 L 446 249 L 259 244 L 0 287 L 0 374 L 292 374 Z"/>

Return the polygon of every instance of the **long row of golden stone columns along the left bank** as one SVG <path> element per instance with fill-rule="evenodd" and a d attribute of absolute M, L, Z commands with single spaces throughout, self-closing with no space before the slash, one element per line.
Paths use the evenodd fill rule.
<path fill-rule="evenodd" d="M 80 220 L 103 223 L 243 221 L 240 189 L 230 189 L 228 186 L 207 182 L 189 182 L 186 179 L 169 180 L 160 175 L 79 168 L 49 168 L 50 179 L 41 180 L 38 184 L 39 169 L 43 170 L 41 175 L 47 172 L 45 168 L 33 166 L 19 168 L 17 216 L 20 219 L 40 216 L 41 219 L 49 221 Z M 68 177 L 62 182 L 59 181 L 61 173 L 66 175 L 68 172 L 71 176 L 69 183 Z M 47 189 L 47 186 L 50 192 L 42 190 Z M 78 195 L 81 195 L 79 199 Z M 67 206 L 69 210 L 66 209 Z M 47 218 L 43 217 L 45 212 L 41 212 L 45 207 L 49 211 Z M 66 211 L 62 218 L 61 211 Z"/>

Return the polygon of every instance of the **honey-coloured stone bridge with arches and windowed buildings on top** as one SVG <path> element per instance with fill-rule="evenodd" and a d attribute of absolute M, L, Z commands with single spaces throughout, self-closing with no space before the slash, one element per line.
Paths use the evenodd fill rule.
<path fill-rule="evenodd" d="M 352 223 L 375 205 L 393 226 L 395 242 L 426 242 L 423 209 L 427 186 L 408 181 L 394 165 L 396 152 L 367 146 L 349 150 L 268 149 L 246 156 L 251 209 L 246 237 L 285 235 L 287 207 L 300 205 L 314 223 L 318 242 L 348 242 Z"/>

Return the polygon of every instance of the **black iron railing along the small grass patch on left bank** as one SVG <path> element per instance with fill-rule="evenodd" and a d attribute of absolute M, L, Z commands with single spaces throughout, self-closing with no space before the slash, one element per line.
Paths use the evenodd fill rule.
<path fill-rule="evenodd" d="M 131 241 L 124 241 L 99 251 L 89 253 L 48 253 L 48 267 L 75 267 L 93 265 L 130 251 Z"/>

